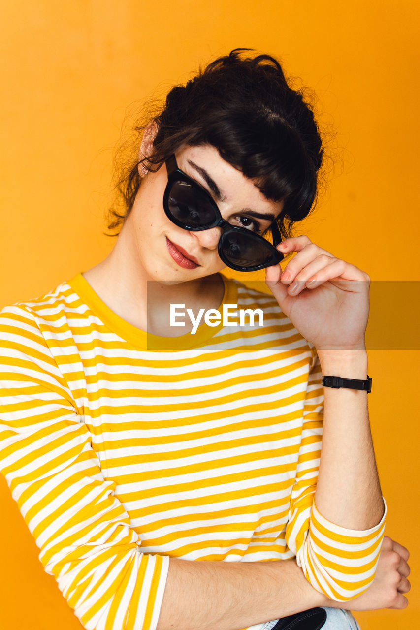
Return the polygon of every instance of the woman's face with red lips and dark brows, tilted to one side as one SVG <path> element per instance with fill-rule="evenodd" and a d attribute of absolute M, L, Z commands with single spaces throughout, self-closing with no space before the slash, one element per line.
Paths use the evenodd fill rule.
<path fill-rule="evenodd" d="M 254 181 L 227 163 L 214 147 L 185 146 L 175 157 L 178 168 L 207 190 L 223 219 L 233 226 L 263 234 L 281 211 L 281 202 L 265 198 Z M 221 228 L 190 232 L 172 223 L 163 209 L 167 182 L 165 165 L 157 173 L 147 173 L 125 222 L 131 226 L 146 276 L 186 282 L 219 272 L 225 267 L 218 255 Z"/>

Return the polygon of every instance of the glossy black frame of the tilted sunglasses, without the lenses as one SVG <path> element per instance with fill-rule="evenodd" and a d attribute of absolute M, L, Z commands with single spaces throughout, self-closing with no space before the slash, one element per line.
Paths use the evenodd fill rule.
<path fill-rule="evenodd" d="M 166 171 L 168 172 L 168 183 L 166 184 L 165 192 L 163 193 L 163 209 L 165 210 L 165 214 L 168 217 L 168 219 L 170 219 L 170 221 L 175 223 L 175 225 L 177 225 L 178 227 L 182 227 L 182 229 L 188 230 L 190 232 L 202 232 L 204 230 L 211 229 L 211 227 L 221 227 L 222 234 L 219 238 L 219 243 L 218 243 L 219 257 L 225 263 L 225 265 L 227 265 L 231 269 L 235 269 L 236 271 L 254 272 L 259 269 L 264 269 L 265 267 L 277 265 L 281 260 L 283 260 L 284 258 L 283 254 L 276 249 L 276 245 L 281 243 L 281 234 L 279 231 L 279 227 L 277 226 L 277 223 L 275 221 L 274 223 L 271 224 L 269 228 L 271 229 L 273 244 L 267 241 L 267 239 L 265 239 L 263 236 L 260 236 L 259 234 L 255 234 L 255 232 L 251 232 L 250 230 L 247 230 L 245 227 L 231 226 L 230 223 L 228 223 L 227 221 L 225 221 L 225 219 L 222 218 L 217 204 L 214 202 L 211 195 L 209 195 L 209 192 L 207 192 L 206 188 L 201 186 L 197 181 L 190 178 L 186 173 L 184 173 L 184 171 L 181 171 L 181 169 L 178 168 L 177 160 L 175 159 L 175 154 L 172 154 L 172 156 L 168 157 L 168 159 L 165 161 L 165 164 L 166 164 Z M 213 210 L 214 210 L 215 219 L 211 224 L 206 225 L 206 226 L 198 226 L 198 227 L 187 226 L 185 224 L 182 224 L 180 221 L 177 220 L 176 217 L 173 216 L 172 212 L 169 209 L 169 197 L 170 197 L 170 191 L 172 189 L 172 186 L 176 181 L 185 181 L 185 183 L 192 186 L 192 188 L 195 188 L 202 194 L 204 193 L 204 196 L 207 198 L 207 201 L 209 202 L 211 207 L 213 207 Z M 223 241 L 225 237 L 228 236 L 228 234 L 232 232 L 236 232 L 236 233 L 240 232 L 240 234 L 243 234 L 244 231 L 247 232 L 247 238 L 254 240 L 255 243 L 261 243 L 261 242 L 264 243 L 264 247 L 267 248 L 269 253 L 271 253 L 271 255 L 273 256 L 272 261 L 270 261 L 269 263 L 261 263 L 260 265 L 251 265 L 248 267 L 244 267 L 242 265 L 236 265 L 235 263 L 232 263 L 227 260 L 225 254 L 223 253 Z"/>

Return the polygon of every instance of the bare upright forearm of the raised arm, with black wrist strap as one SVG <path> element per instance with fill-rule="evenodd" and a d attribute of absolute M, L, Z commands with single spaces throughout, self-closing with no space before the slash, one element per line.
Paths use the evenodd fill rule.
<path fill-rule="evenodd" d="M 323 351 L 318 357 L 324 375 L 367 377 L 366 350 Z M 315 504 L 327 520 L 347 529 L 370 529 L 382 518 L 365 391 L 324 387 L 324 433 Z"/>

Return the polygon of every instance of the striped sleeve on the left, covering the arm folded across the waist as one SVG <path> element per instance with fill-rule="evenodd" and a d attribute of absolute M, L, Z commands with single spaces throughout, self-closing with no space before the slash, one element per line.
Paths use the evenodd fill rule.
<path fill-rule="evenodd" d="M 1 471 L 45 570 L 86 629 L 154 630 L 168 558 L 141 552 L 32 314 L 4 309 L 0 339 Z"/>

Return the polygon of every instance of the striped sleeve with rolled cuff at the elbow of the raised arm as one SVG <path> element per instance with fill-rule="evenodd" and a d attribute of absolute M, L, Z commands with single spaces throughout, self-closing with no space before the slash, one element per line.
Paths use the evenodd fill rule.
<path fill-rule="evenodd" d="M 318 357 L 306 389 L 303 432 L 286 526 L 288 547 L 306 578 L 337 601 L 357 597 L 375 577 L 385 529 L 385 513 L 368 530 L 349 530 L 325 519 L 314 502 L 322 444 L 323 387 Z"/>

